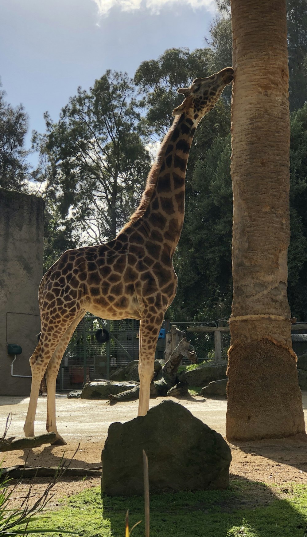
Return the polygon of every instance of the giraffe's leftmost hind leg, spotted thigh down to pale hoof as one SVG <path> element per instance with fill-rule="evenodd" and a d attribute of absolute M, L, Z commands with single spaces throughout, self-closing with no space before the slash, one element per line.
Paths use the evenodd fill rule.
<path fill-rule="evenodd" d="M 57 345 L 59 345 L 65 332 L 71 323 L 79 318 L 78 314 L 68 314 L 67 312 L 62 317 L 61 323 L 56 323 L 49 318 L 48 312 L 41 315 L 42 330 L 40 340 L 36 345 L 36 349 L 30 358 L 32 383 L 30 393 L 30 403 L 28 406 L 27 417 L 24 425 L 26 437 L 34 436 L 34 421 L 39 396 L 40 383 L 46 371 L 48 363 L 52 358 Z"/>

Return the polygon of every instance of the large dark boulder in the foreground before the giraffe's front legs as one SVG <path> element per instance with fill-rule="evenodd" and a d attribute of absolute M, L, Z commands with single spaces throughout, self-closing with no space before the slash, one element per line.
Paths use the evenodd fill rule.
<path fill-rule="evenodd" d="M 225 489 L 231 453 L 221 434 L 167 400 L 146 416 L 112 423 L 103 449 L 101 490 L 109 496 L 144 494 L 142 450 L 151 494 Z"/>

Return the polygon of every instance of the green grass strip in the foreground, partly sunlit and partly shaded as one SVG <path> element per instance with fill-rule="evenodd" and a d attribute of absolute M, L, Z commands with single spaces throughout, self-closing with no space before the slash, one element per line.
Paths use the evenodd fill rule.
<path fill-rule="evenodd" d="M 143 498 L 101 499 L 98 488 L 64 499 L 48 513 L 48 526 L 88 537 L 124 537 L 127 509 L 130 527 L 142 519 L 133 535 L 143 537 Z M 306 527 L 307 485 L 242 479 L 225 491 L 150 497 L 150 537 L 304 537 Z"/>

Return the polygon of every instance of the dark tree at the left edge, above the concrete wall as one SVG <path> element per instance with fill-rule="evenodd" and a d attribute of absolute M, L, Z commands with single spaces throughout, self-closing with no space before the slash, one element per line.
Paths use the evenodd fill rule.
<path fill-rule="evenodd" d="M 0 83 L 1 86 L 1 83 Z M 0 90 L 0 186 L 12 190 L 27 190 L 28 151 L 24 148 L 28 116 L 23 105 L 13 108 Z"/>

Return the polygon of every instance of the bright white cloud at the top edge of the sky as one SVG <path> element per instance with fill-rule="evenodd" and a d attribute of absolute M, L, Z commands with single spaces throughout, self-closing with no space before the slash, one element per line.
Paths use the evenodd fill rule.
<path fill-rule="evenodd" d="M 193 9 L 206 7 L 211 12 L 216 12 L 214 0 L 93 0 L 96 3 L 100 16 L 107 15 L 109 10 L 118 6 L 122 11 L 133 11 L 140 9 L 141 5 L 151 13 L 159 13 L 165 5 L 184 4 Z"/>

